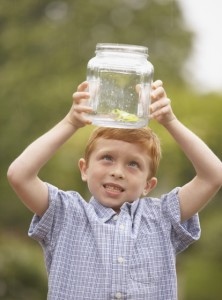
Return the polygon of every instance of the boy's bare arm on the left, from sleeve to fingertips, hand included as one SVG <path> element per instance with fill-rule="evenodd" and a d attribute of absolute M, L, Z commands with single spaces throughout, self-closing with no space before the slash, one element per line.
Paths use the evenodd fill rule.
<path fill-rule="evenodd" d="M 48 189 L 38 177 L 40 169 L 78 128 L 91 123 L 83 114 L 90 111 L 83 105 L 84 99 L 89 97 L 84 92 L 86 87 L 86 82 L 79 85 L 67 116 L 29 145 L 8 169 L 8 180 L 13 189 L 24 204 L 39 216 L 48 208 Z"/>

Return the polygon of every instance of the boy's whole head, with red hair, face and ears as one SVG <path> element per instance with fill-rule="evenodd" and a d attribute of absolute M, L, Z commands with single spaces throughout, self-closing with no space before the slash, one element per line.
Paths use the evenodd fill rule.
<path fill-rule="evenodd" d="M 155 188 L 160 156 L 159 140 L 149 128 L 98 128 L 79 168 L 95 199 L 119 211 Z"/>

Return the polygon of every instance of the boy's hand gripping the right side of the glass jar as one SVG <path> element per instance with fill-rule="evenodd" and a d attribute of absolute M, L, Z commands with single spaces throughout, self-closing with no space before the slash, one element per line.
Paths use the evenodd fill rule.
<path fill-rule="evenodd" d="M 150 119 L 157 120 L 160 124 L 166 125 L 176 119 L 171 105 L 170 99 L 167 98 L 161 80 L 156 80 L 152 84 Z"/>

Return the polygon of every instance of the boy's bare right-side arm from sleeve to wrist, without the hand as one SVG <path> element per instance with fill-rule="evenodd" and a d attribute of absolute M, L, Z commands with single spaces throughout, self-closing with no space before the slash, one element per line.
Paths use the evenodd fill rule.
<path fill-rule="evenodd" d="M 196 176 L 179 191 L 181 220 L 202 209 L 222 185 L 222 163 L 193 132 L 173 120 L 165 126 L 191 161 Z"/>

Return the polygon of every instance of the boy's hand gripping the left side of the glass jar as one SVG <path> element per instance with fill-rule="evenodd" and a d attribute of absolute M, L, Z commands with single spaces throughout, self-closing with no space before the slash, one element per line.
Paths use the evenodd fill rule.
<path fill-rule="evenodd" d="M 88 83 L 86 81 L 78 86 L 77 91 L 72 96 L 73 105 L 66 116 L 66 120 L 76 129 L 92 123 L 86 116 L 86 114 L 92 112 L 92 108 L 87 105 L 90 97 L 89 93 L 86 92 L 87 87 Z"/>

